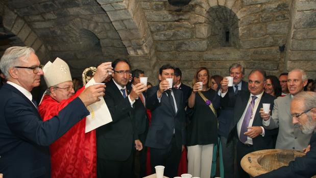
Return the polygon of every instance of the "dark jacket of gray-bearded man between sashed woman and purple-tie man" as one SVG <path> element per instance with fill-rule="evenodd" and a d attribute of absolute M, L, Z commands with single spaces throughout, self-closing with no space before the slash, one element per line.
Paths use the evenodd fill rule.
<path fill-rule="evenodd" d="M 241 91 L 248 91 L 248 83 L 241 81 Z M 218 135 L 228 137 L 229 126 L 233 121 L 233 111 L 238 94 L 234 93 L 234 86 L 228 87 L 225 97 L 221 97 L 221 114 L 218 116 Z"/>

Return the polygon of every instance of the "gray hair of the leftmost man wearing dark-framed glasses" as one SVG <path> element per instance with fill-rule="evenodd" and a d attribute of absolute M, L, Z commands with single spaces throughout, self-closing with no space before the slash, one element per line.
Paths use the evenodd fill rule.
<path fill-rule="evenodd" d="M 0 69 L 6 79 L 10 77 L 9 69 L 17 65 L 20 58 L 29 59 L 31 53 L 35 53 L 34 49 L 27 46 L 12 46 L 6 49 L 0 59 Z"/>

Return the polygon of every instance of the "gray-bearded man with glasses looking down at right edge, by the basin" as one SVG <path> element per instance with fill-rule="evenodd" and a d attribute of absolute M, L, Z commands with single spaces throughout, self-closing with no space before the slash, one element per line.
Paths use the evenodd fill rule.
<path fill-rule="evenodd" d="M 293 124 L 298 124 L 303 133 L 314 133 L 310 138 L 310 147 L 305 151 L 307 154 L 291 161 L 288 166 L 256 177 L 300 178 L 316 175 L 316 93 L 300 92 L 295 95 L 291 101 L 290 112 Z"/>

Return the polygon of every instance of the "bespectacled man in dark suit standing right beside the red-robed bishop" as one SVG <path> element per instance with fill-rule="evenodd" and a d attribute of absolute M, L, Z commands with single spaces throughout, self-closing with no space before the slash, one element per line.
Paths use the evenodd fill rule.
<path fill-rule="evenodd" d="M 106 83 L 105 102 L 112 122 L 96 130 L 96 153 L 98 177 L 132 177 L 134 145 L 142 149 L 132 121 L 133 104 L 139 94 L 147 90 L 146 85 L 129 82 L 130 62 L 116 59 L 112 62 L 112 80 Z"/>

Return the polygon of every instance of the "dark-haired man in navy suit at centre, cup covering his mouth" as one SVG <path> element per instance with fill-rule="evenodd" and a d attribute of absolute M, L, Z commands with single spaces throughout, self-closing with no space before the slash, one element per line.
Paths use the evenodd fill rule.
<path fill-rule="evenodd" d="M 152 111 L 145 146 L 150 147 L 152 170 L 155 166 L 165 166 L 164 175 L 177 176 L 181 151 L 185 144 L 185 111 L 181 90 L 169 85 L 167 78 L 173 79 L 175 69 L 163 65 L 159 69 L 159 85 L 147 91 L 146 106 Z"/>

